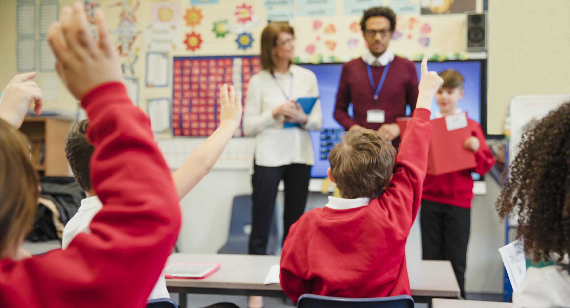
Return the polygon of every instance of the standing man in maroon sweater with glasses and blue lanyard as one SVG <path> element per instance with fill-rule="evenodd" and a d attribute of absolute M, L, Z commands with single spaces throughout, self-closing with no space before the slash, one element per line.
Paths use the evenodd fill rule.
<path fill-rule="evenodd" d="M 416 68 L 409 60 L 388 50 L 396 29 L 396 15 L 388 7 L 364 11 L 360 27 L 369 51 L 362 58 L 344 64 L 334 116 L 345 130 L 376 129 L 398 148 L 400 128 L 396 117 L 406 116 L 406 105 L 412 111 L 416 108 Z M 354 117 L 348 115 L 351 103 Z"/>

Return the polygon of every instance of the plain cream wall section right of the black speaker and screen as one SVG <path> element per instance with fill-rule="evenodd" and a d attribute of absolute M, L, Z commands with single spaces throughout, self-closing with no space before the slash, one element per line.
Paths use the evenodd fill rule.
<path fill-rule="evenodd" d="M 570 93 L 570 1 L 489 1 L 488 34 L 488 133 L 515 95 Z"/>

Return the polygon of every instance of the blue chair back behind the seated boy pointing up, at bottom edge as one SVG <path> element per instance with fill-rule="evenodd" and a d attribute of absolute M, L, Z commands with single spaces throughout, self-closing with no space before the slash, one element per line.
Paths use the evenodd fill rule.
<path fill-rule="evenodd" d="M 299 297 L 297 308 L 414 308 L 410 295 L 376 298 L 344 298 L 314 294 Z"/>

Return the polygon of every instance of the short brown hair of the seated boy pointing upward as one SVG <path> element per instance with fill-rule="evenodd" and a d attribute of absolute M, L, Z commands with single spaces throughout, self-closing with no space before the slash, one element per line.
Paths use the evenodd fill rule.
<path fill-rule="evenodd" d="M 332 148 L 328 160 L 343 198 L 377 198 L 394 171 L 396 149 L 377 131 L 353 129 Z"/>

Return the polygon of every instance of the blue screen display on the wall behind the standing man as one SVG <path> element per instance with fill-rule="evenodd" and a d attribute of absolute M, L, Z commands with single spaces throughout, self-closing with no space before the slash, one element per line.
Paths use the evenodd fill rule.
<path fill-rule="evenodd" d="M 414 62 L 420 79 L 420 62 Z M 463 90 L 465 96 L 458 103 L 458 108 L 467 112 L 467 116 L 481 123 L 481 62 L 478 60 L 466 61 L 445 61 L 445 62 L 429 62 L 430 71 L 443 71 L 447 68 L 453 68 L 463 75 L 465 82 Z M 312 147 L 315 153 L 315 165 L 311 169 L 311 177 L 327 177 L 328 151 L 340 141 L 343 128 L 336 122 L 333 117 L 335 109 L 336 92 L 339 86 L 340 73 L 342 71 L 342 63 L 332 64 L 300 64 L 315 73 L 317 83 L 319 84 L 320 104 L 323 112 L 323 129 L 321 131 L 310 132 Z M 435 99 L 433 100 L 432 117 L 439 110 Z M 352 111 L 349 110 L 352 115 Z M 409 114 L 409 108 L 408 108 Z"/>

